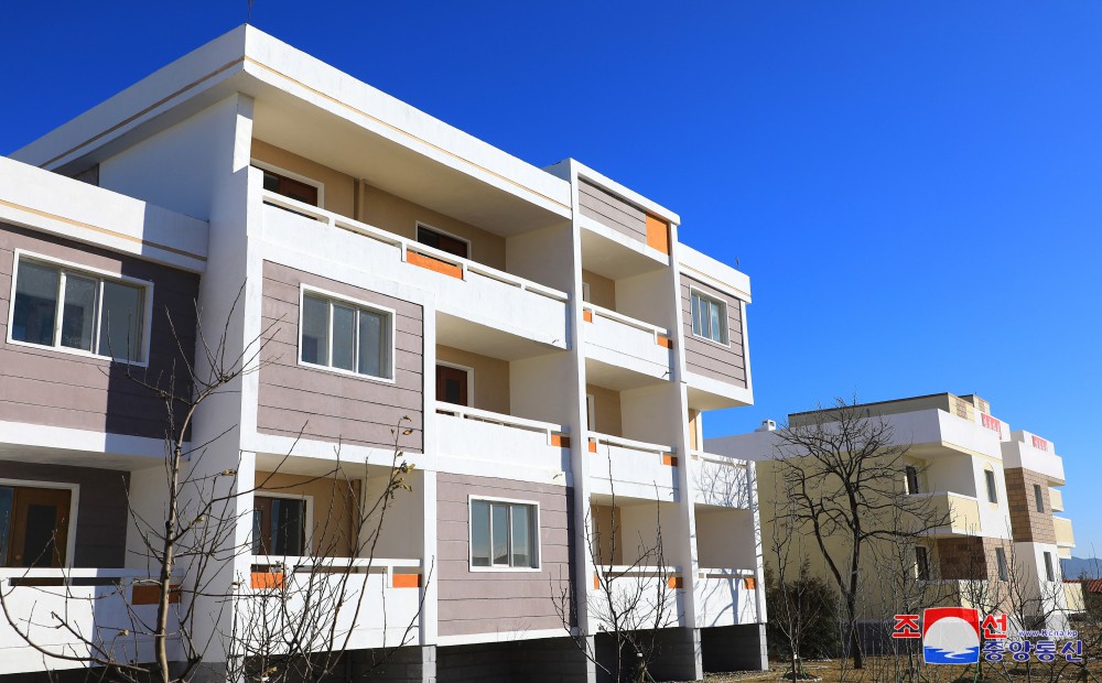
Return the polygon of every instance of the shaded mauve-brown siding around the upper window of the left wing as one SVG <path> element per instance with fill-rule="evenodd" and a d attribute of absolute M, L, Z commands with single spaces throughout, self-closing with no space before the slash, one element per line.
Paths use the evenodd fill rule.
<path fill-rule="evenodd" d="M 105 358 L 7 343 L 15 249 L 153 282 L 149 369 L 130 368 L 138 378 L 151 382 L 166 383 L 165 378 L 174 367 L 177 382 L 185 386 L 187 381 L 168 315 L 172 316 L 180 346 L 191 364 L 195 348 L 194 302 L 198 294 L 198 275 L 0 224 L 0 420 L 132 436 L 164 436 L 164 404 L 150 390 L 127 378 L 128 366 Z"/>

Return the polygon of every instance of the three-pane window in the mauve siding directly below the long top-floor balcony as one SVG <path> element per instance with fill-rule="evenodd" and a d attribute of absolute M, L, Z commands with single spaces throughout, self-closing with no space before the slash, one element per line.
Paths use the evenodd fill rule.
<path fill-rule="evenodd" d="M 304 292 L 299 357 L 315 366 L 393 379 L 392 325 L 392 312 Z"/>

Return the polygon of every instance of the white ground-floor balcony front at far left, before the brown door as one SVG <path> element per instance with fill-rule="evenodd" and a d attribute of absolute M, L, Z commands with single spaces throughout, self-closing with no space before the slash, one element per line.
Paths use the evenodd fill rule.
<path fill-rule="evenodd" d="M 44 655 L 20 632 L 47 651 L 69 657 L 88 655 L 90 641 L 119 661 L 153 661 L 153 639 L 140 626 L 156 620 L 159 594 L 150 589 L 150 581 L 155 578 L 147 570 L 0 568 L 4 606 L 19 629 L 0 619 L 0 675 L 43 669 Z M 175 610 L 169 618 L 169 630 L 179 631 Z M 179 636 L 169 641 L 169 653 L 170 659 L 182 659 Z M 83 665 L 48 657 L 45 663 L 51 670 Z"/>

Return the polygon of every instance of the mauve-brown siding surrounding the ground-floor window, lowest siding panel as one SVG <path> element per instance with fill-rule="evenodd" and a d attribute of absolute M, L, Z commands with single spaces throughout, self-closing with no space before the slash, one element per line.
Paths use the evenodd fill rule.
<path fill-rule="evenodd" d="M 539 572 L 469 570 L 468 496 L 539 503 Z M 570 578 L 572 489 L 441 473 L 436 498 L 440 635 L 561 629 L 551 595 L 558 595 Z"/>

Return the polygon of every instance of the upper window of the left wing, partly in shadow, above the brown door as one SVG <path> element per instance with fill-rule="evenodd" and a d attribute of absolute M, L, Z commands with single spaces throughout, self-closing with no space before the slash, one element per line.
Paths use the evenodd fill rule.
<path fill-rule="evenodd" d="M 11 340 L 144 362 L 150 288 L 20 256 Z"/>

